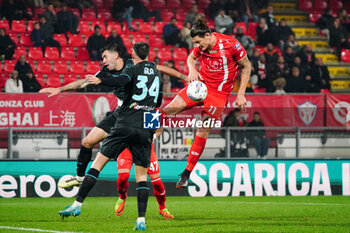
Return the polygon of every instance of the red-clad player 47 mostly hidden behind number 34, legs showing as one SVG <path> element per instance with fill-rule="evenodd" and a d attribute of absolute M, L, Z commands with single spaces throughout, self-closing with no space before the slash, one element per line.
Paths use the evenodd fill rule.
<path fill-rule="evenodd" d="M 121 215 L 124 212 L 125 200 L 127 197 L 126 191 L 129 187 L 129 175 L 130 169 L 132 167 L 132 155 L 130 150 L 125 149 L 117 159 L 118 167 L 118 179 L 117 179 L 117 189 L 119 192 L 119 199 L 115 205 L 116 215 Z M 165 219 L 174 218 L 173 215 L 165 206 L 166 193 L 162 180 L 160 179 L 159 174 L 159 164 L 156 152 L 154 151 L 154 144 L 151 148 L 151 164 L 148 167 L 147 174 L 151 179 L 153 186 L 153 193 L 156 196 L 158 205 L 159 205 L 159 214 L 162 215 Z"/>

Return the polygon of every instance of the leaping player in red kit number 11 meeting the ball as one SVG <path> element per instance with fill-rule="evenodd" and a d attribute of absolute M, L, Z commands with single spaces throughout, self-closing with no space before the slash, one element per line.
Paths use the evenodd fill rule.
<path fill-rule="evenodd" d="M 191 28 L 192 41 L 196 48 L 187 58 L 190 81 L 203 81 L 208 88 L 207 98 L 202 102 L 194 102 L 186 94 L 186 88 L 161 111 L 164 117 L 175 115 L 193 106 L 203 105 L 202 120 L 217 119 L 226 106 L 227 99 L 233 89 L 236 77 L 241 72 L 241 82 L 237 93 L 236 104 L 242 111 L 246 108 L 244 97 L 250 78 L 251 65 L 243 46 L 233 37 L 212 33 L 206 20 L 199 17 Z M 201 70 L 195 68 L 195 61 L 201 58 Z M 207 141 L 211 128 L 199 128 L 190 149 L 187 166 L 182 172 L 177 188 L 185 188 L 193 168 L 197 164 Z"/>

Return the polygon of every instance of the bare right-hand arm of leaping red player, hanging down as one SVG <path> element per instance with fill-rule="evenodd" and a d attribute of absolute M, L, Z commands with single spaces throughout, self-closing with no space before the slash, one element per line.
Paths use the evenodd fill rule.
<path fill-rule="evenodd" d="M 239 86 L 238 92 L 237 92 L 237 98 L 236 98 L 236 104 L 238 107 L 244 112 L 246 110 L 247 101 L 244 97 L 245 90 L 247 88 L 247 84 L 249 82 L 250 78 L 250 72 L 251 72 L 251 64 L 248 60 L 247 56 L 245 56 L 243 59 L 241 59 L 238 64 L 241 67 L 241 84 Z"/>

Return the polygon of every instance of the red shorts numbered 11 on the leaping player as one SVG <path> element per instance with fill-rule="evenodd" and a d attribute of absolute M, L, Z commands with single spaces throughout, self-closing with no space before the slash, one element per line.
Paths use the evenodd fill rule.
<path fill-rule="evenodd" d="M 187 96 L 187 87 L 182 89 L 177 95 L 185 101 L 187 108 L 203 105 L 202 116 L 207 114 L 214 119 L 217 119 L 223 112 L 229 96 L 229 94 L 222 94 L 208 89 L 208 95 L 205 100 L 194 102 Z"/>

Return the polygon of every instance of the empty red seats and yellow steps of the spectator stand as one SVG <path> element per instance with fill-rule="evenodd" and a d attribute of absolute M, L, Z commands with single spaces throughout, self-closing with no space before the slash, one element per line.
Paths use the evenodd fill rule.
<path fill-rule="evenodd" d="M 198 4 L 199 11 L 207 13 L 210 0 L 142 0 L 145 6 L 150 10 L 160 10 L 163 21 L 155 22 L 154 17 L 149 22 L 140 19 L 134 19 L 132 26 L 137 29 L 136 32 L 129 31 L 126 22 L 121 25 L 113 19 L 110 9 L 113 7 L 113 0 L 93 0 L 94 8 L 84 9 L 82 14 L 77 9 L 71 9 L 73 13 L 79 16 L 78 31 L 79 34 L 54 34 L 53 38 L 61 45 L 59 51 L 54 47 L 47 47 L 45 53 L 40 47 L 33 47 L 30 40 L 30 32 L 33 30 L 34 23 L 38 21 L 38 16 L 42 14 L 44 8 L 35 8 L 34 11 L 28 8 L 33 20 L 14 20 L 11 24 L 7 20 L 0 20 L 0 28 L 5 28 L 6 32 L 16 43 L 14 60 L 6 60 L 0 66 L 0 88 L 4 86 L 4 79 L 12 72 L 14 65 L 20 55 L 25 55 L 28 62 L 32 65 L 35 75 L 44 86 L 58 86 L 74 81 L 85 74 L 96 73 L 100 67 L 100 62 L 91 62 L 86 43 L 89 36 L 93 33 L 95 25 L 100 26 L 101 32 L 106 38 L 110 32 L 115 29 L 122 37 L 124 44 L 131 52 L 132 44 L 138 41 L 148 42 L 151 46 L 150 60 L 158 57 L 163 64 L 165 61 L 174 60 L 176 68 L 187 73 L 186 58 L 188 53 L 186 49 L 166 46 L 162 39 L 164 25 L 171 17 L 178 20 L 179 29 L 183 27 L 184 20 L 188 10 L 193 4 Z M 309 37 L 324 36 L 319 33 L 314 23 L 321 17 L 322 11 L 331 7 L 334 12 L 342 7 L 350 11 L 350 3 L 345 0 L 294 0 L 274 1 L 272 3 L 275 9 L 275 19 L 285 18 L 292 26 L 300 45 L 311 44 L 313 49 L 326 51 L 329 49 L 326 40 L 308 39 Z M 279 13 L 283 12 L 283 13 Z M 293 13 L 297 12 L 297 13 Z M 301 13 L 302 12 L 302 13 Z M 312 23 L 310 25 L 310 22 Z M 300 24 L 300 25 L 299 25 Z M 301 25 L 302 24 L 302 25 Z M 210 28 L 214 28 L 214 21 L 208 20 Z M 242 22 L 236 23 L 234 33 L 241 27 L 243 33 L 256 40 L 257 23 L 250 22 L 248 27 Z M 323 37 L 324 38 L 324 37 Z M 350 38 L 349 38 L 350 39 Z M 260 53 L 264 52 L 263 47 L 256 46 Z M 277 48 L 277 47 L 276 47 Z M 279 54 L 281 51 L 277 48 Z M 338 57 L 334 53 L 319 52 L 316 57 L 322 57 L 329 66 L 332 78 L 339 80 L 339 77 L 349 75 L 349 66 L 337 65 Z M 350 64 L 350 50 L 343 49 L 340 60 Z M 349 81 L 349 79 L 345 80 Z M 259 91 L 259 90 L 257 90 Z"/>

